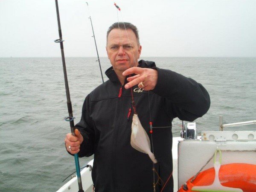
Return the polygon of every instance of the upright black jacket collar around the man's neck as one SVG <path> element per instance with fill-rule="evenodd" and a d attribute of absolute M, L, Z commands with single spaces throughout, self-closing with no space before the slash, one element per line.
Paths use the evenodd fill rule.
<path fill-rule="evenodd" d="M 152 61 L 140 60 L 138 67 L 154 69 L 156 67 L 156 64 Z M 111 82 L 119 83 L 119 79 L 118 79 L 118 77 L 116 75 L 116 72 L 114 71 L 113 67 L 109 67 L 105 71 L 105 74 L 106 74 L 106 76 L 108 76 L 108 79 L 110 79 Z M 134 74 L 132 76 L 134 76 Z"/>

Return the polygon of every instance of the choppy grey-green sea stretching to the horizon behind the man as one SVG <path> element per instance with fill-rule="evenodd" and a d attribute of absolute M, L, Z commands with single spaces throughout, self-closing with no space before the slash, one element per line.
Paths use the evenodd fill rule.
<path fill-rule="evenodd" d="M 256 120 L 256 58 L 148 57 L 204 85 L 211 98 L 207 114 L 195 120 L 198 133 L 224 123 Z M 100 58 L 103 74 L 111 66 Z M 66 58 L 75 123 L 85 97 L 102 83 L 96 58 Z M 107 81 L 104 74 L 104 80 Z M 54 192 L 75 171 L 64 138 L 70 125 L 61 58 L 0 58 L 0 191 Z M 172 132 L 180 136 L 182 122 Z M 256 130 L 256 125 L 225 128 Z M 80 166 L 92 157 L 80 158 Z"/>

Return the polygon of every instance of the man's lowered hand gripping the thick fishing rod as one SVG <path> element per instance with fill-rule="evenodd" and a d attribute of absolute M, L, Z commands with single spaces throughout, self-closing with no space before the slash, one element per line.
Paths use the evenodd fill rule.
<path fill-rule="evenodd" d="M 71 154 L 76 154 L 80 151 L 80 145 L 83 142 L 84 138 L 78 129 L 75 129 L 76 136 L 73 136 L 71 133 L 68 133 L 65 138 L 65 145 L 67 151 Z"/>

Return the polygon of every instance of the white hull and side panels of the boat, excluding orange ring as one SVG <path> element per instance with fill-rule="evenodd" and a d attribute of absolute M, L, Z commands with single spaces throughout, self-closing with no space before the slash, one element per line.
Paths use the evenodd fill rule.
<path fill-rule="evenodd" d="M 256 164 L 256 131 L 203 131 L 202 140 L 199 140 L 199 138 L 198 140 L 184 140 L 180 137 L 173 137 L 172 157 L 175 192 L 205 165 L 217 148 L 224 151 L 222 153 L 222 164 Z M 178 160 L 179 163 L 177 163 Z M 93 160 L 88 164 L 93 166 Z M 212 166 L 213 160 L 203 170 Z M 91 192 L 93 181 L 90 168 L 81 171 L 81 178 L 84 191 Z M 58 190 L 58 192 L 77 191 L 76 177 Z"/>

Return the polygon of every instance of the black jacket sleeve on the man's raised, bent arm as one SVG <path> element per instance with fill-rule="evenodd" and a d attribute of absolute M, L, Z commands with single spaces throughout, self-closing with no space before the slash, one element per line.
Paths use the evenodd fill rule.
<path fill-rule="evenodd" d="M 210 97 L 203 85 L 171 70 L 154 69 L 158 79 L 152 91 L 164 98 L 163 105 L 170 117 L 194 121 L 207 113 Z"/>

